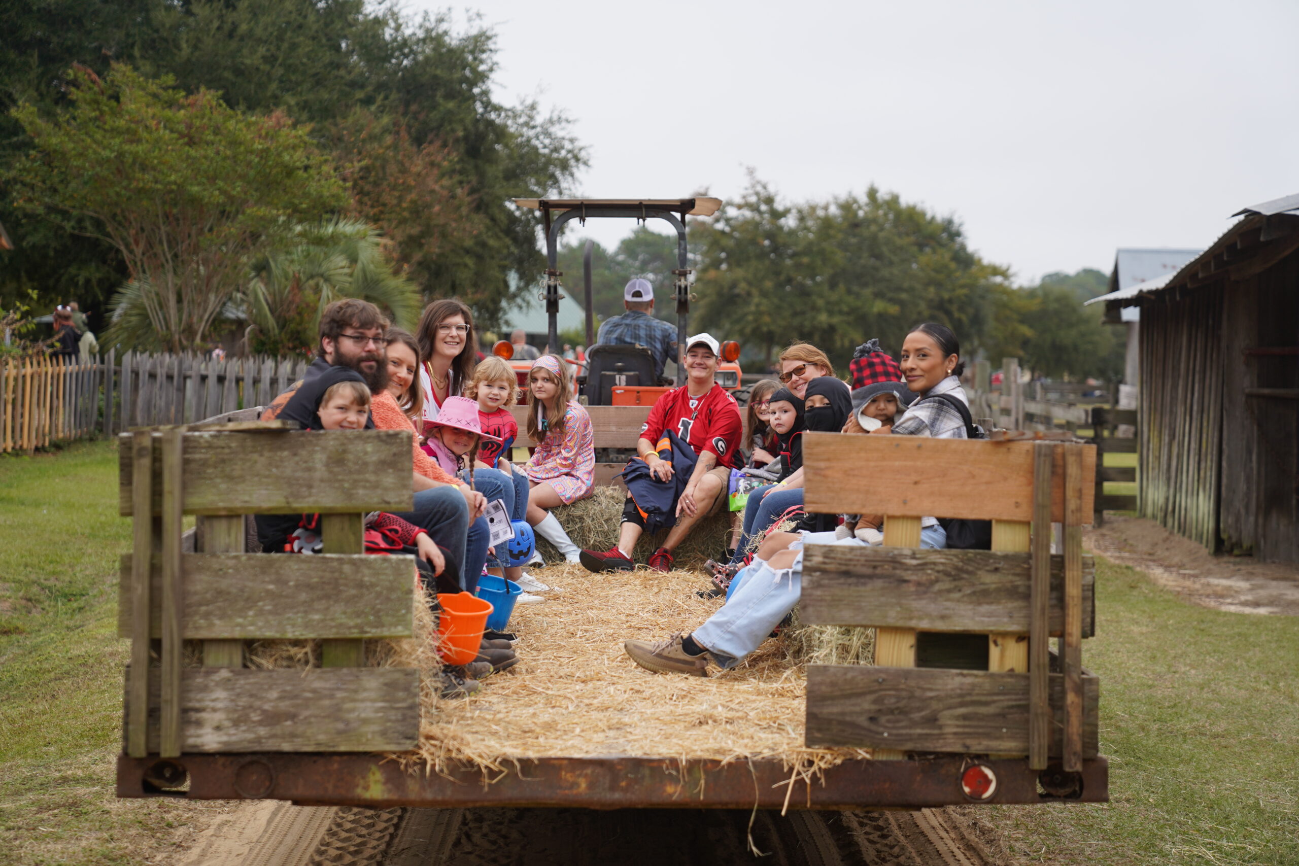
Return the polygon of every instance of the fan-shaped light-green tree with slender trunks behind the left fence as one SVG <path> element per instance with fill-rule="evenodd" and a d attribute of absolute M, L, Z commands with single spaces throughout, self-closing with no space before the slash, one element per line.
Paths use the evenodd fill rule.
<path fill-rule="evenodd" d="M 147 310 L 166 348 L 203 344 L 253 256 L 346 203 L 329 161 L 282 114 L 248 117 L 125 65 L 71 80 L 68 112 L 14 112 L 34 142 L 10 174 L 16 201 L 114 247 L 131 278 L 120 300 Z"/>

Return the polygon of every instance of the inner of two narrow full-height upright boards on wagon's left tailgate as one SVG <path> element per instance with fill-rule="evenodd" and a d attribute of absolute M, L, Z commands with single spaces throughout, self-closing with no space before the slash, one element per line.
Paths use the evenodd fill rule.
<path fill-rule="evenodd" d="M 181 532 L 184 531 L 182 502 L 183 435 L 181 430 L 162 434 L 162 704 L 160 715 L 161 745 L 158 754 L 173 758 L 181 754 Z M 142 514 L 139 519 L 148 519 Z"/>

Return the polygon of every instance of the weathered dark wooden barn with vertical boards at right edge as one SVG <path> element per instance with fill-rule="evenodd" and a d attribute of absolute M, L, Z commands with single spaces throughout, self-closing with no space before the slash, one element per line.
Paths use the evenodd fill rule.
<path fill-rule="evenodd" d="M 1141 308 L 1141 513 L 1299 562 L 1299 195 L 1244 208 Z"/>

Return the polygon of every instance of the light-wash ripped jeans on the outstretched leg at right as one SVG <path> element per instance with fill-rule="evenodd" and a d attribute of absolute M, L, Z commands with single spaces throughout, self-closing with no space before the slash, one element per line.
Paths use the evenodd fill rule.
<path fill-rule="evenodd" d="M 734 667 L 740 663 L 794 610 L 803 593 L 804 544 L 868 547 L 856 538 L 835 540 L 834 532 L 808 532 L 790 545 L 790 549 L 799 551 L 799 556 L 788 569 L 777 571 L 766 562 L 753 562 L 737 574 L 726 604 L 691 635 L 695 643 L 713 654 L 718 665 Z M 947 532 L 942 526 L 922 528 L 920 547 L 947 547 Z"/>

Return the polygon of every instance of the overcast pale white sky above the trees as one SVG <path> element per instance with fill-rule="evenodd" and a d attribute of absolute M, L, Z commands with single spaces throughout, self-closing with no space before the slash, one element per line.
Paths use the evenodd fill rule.
<path fill-rule="evenodd" d="M 574 119 L 591 197 L 725 200 L 748 166 L 791 200 L 874 183 L 1030 282 L 1108 273 L 1118 247 L 1205 247 L 1299 192 L 1294 0 L 475 8 L 499 97 Z M 630 226 L 587 222 L 607 244 Z"/>

